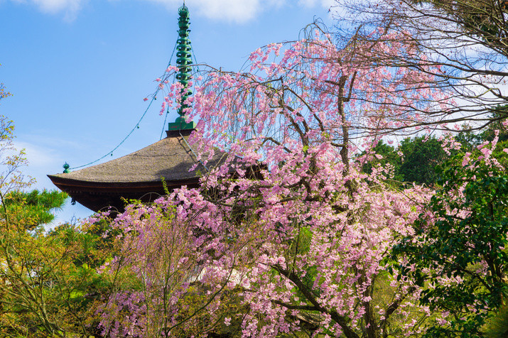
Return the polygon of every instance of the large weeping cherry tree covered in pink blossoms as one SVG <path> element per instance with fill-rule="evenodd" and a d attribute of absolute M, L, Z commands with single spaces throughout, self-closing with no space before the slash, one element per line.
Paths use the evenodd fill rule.
<path fill-rule="evenodd" d="M 364 58 L 369 50 L 418 53 L 398 40 L 390 33 L 377 45 L 352 39 L 337 48 L 314 27 L 304 40 L 256 50 L 246 72 L 210 69 L 196 78 L 195 96 L 186 102 L 192 109 L 185 110 L 198 120 L 189 143 L 206 167 L 199 168 L 201 187 L 182 187 L 114 220 L 129 248 L 104 273 L 130 273 L 143 285 L 107 300 L 105 332 L 143 337 L 148 275 L 159 276 L 149 302 L 160 308 L 171 298 L 157 312 L 161 335 L 200 326 L 242 337 L 387 337 L 418 334 L 422 321 L 433 320 L 416 302 L 418 285 L 389 275 L 383 263 L 398 239 L 414 234 L 411 224 L 431 191 L 385 184 L 389 165 L 361 170 L 379 157 L 372 147 L 387 132 L 414 132 L 415 121 L 434 124 L 432 114 L 421 113 L 450 104 L 434 86 L 438 70 Z M 181 89 L 171 85 L 165 107 L 179 107 Z M 217 152 L 222 163 L 209 168 Z M 139 214 L 145 208 L 157 211 Z M 166 217 L 171 236 L 183 236 L 175 256 L 157 249 L 161 241 L 153 238 L 166 238 L 156 235 L 157 215 Z M 162 270 L 148 268 L 161 259 Z M 166 288 L 153 271 L 165 271 L 178 287 Z M 191 295 L 200 299 L 192 306 Z M 113 308 L 133 317 L 121 321 Z"/>

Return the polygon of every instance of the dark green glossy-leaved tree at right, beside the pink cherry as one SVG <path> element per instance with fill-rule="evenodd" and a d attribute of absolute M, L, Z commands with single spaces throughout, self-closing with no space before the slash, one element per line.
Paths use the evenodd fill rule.
<path fill-rule="evenodd" d="M 393 258 L 407 260 L 401 276 L 424 288 L 422 304 L 451 314 L 448 325 L 431 327 L 427 337 L 480 335 L 507 288 L 508 175 L 473 156 L 465 166 L 457 155 L 438 167 L 441 189 L 430 213 L 415 223 L 416 236 L 393 249 Z"/>

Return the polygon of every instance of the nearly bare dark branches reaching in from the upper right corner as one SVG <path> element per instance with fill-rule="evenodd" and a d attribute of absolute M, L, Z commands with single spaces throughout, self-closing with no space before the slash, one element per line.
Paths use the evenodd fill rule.
<path fill-rule="evenodd" d="M 431 111 L 443 122 L 441 129 L 459 123 L 476 131 L 508 116 L 506 1 L 336 0 L 336 9 L 337 22 L 349 27 L 337 40 L 355 36 L 377 45 L 393 33 L 418 50 L 397 55 L 379 50 L 375 58 L 379 65 L 426 72 L 453 95 L 453 107 Z M 411 102 L 407 106 L 414 109 Z"/>

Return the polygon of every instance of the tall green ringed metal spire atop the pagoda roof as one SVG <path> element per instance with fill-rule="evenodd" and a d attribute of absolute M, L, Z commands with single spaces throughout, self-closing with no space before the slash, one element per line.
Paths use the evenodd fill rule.
<path fill-rule="evenodd" d="M 178 67 L 178 74 L 176 75 L 176 80 L 182 84 L 183 88 L 181 89 L 182 98 L 180 99 L 180 107 L 178 108 L 178 117 L 174 122 L 168 124 L 168 131 L 180 131 L 180 130 L 192 130 L 195 129 L 195 123 L 190 121 L 189 123 L 185 123 L 185 111 L 187 111 L 190 106 L 185 103 L 185 100 L 193 94 L 188 88 L 188 84 L 192 79 L 191 70 L 193 60 L 191 54 L 191 46 L 189 39 L 189 9 L 185 6 L 185 1 L 183 1 L 183 5 L 178 9 L 178 40 L 176 41 L 176 65 Z"/>

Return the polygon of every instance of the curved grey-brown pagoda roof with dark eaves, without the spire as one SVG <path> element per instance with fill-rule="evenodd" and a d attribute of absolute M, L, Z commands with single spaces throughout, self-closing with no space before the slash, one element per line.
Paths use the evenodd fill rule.
<path fill-rule="evenodd" d="M 187 142 L 189 135 L 190 131 L 168 132 L 168 137 L 129 155 L 48 178 L 73 200 L 94 211 L 109 206 L 121 211 L 124 199 L 151 202 L 164 195 L 163 180 L 169 190 L 182 185 L 198 187 L 207 168 L 225 159 L 226 153 L 217 152 L 205 168 Z"/>

